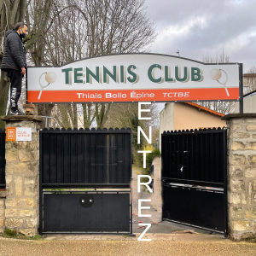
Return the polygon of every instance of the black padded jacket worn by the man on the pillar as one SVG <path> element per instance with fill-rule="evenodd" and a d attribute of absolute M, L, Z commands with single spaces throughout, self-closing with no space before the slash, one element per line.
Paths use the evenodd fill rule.
<path fill-rule="evenodd" d="M 19 34 L 13 30 L 6 32 L 5 50 L 1 69 L 16 69 L 21 72 L 21 67 L 26 67 L 26 50 Z"/>

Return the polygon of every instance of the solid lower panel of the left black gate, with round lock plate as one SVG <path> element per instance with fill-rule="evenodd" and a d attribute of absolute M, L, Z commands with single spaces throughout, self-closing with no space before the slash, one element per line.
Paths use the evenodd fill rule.
<path fill-rule="evenodd" d="M 44 232 L 130 232 L 130 192 L 44 192 Z"/>

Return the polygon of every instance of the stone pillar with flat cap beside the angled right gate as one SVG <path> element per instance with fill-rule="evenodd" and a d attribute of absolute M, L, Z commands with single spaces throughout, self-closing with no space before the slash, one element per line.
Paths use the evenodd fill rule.
<path fill-rule="evenodd" d="M 224 116 L 228 127 L 228 227 L 234 239 L 256 236 L 256 113 Z"/>

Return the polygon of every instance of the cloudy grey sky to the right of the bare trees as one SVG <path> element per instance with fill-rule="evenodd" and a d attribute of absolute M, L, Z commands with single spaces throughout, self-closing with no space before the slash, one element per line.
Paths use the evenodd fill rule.
<path fill-rule="evenodd" d="M 256 66 L 256 0 L 146 0 L 147 15 L 158 36 L 152 53 L 202 61 L 203 55 L 224 53 Z"/>

